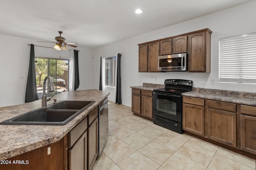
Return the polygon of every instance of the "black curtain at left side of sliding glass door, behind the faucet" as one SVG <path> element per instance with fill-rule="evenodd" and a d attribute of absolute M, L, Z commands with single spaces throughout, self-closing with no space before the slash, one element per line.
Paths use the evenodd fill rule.
<path fill-rule="evenodd" d="M 34 102 L 36 100 L 39 100 L 39 98 L 36 87 L 35 51 L 34 45 L 31 44 L 25 102 Z"/>

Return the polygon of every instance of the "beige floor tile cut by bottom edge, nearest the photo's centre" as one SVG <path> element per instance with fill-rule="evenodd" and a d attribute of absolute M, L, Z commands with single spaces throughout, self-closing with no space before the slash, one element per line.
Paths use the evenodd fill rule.
<path fill-rule="evenodd" d="M 140 152 L 134 152 L 117 164 L 122 170 L 156 170 L 160 165 Z"/>

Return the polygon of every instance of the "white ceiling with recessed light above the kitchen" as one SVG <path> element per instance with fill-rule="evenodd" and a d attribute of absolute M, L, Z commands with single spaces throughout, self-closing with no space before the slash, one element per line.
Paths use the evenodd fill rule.
<path fill-rule="evenodd" d="M 0 34 L 100 47 L 252 0 L 1 0 Z M 142 14 L 135 14 L 137 8 Z"/>

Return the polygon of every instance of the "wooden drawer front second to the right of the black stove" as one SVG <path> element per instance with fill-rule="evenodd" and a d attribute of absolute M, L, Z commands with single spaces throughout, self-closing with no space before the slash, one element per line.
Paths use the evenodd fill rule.
<path fill-rule="evenodd" d="M 208 100 L 208 107 L 236 112 L 236 104 L 234 103 Z"/>

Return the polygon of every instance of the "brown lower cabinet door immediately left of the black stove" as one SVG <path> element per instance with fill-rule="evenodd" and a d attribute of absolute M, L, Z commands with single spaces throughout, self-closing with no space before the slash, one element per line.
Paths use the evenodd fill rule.
<path fill-rule="evenodd" d="M 152 97 L 149 96 L 141 96 L 141 114 L 153 118 L 153 106 L 152 106 Z"/>

